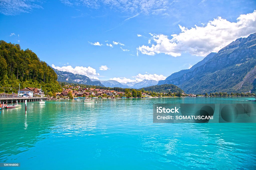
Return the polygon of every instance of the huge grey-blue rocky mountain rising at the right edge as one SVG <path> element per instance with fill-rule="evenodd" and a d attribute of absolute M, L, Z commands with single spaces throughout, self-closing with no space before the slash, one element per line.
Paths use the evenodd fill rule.
<path fill-rule="evenodd" d="M 195 67 L 173 73 L 158 85 L 178 85 L 186 93 L 255 92 L 256 33 L 209 55 Z"/>

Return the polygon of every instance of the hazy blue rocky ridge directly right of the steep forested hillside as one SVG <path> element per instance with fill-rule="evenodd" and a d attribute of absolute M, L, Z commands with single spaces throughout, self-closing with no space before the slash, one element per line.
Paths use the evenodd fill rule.
<path fill-rule="evenodd" d="M 73 74 L 67 71 L 59 71 L 56 69 L 53 69 L 55 73 L 58 76 L 57 81 L 59 82 L 68 82 L 68 83 L 78 83 L 78 84 L 87 84 L 87 85 L 96 85 L 96 86 L 102 86 L 100 81 L 91 81 L 91 79 L 85 75 L 80 74 Z"/>

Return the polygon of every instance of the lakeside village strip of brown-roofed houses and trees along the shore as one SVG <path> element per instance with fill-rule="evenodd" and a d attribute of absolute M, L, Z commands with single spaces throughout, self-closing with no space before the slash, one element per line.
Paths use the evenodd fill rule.
<path fill-rule="evenodd" d="M 106 87 L 104 87 L 106 88 Z M 33 98 L 33 97 L 47 97 L 48 100 L 56 99 L 76 99 L 76 98 L 158 98 L 158 97 L 220 97 L 220 96 L 255 96 L 251 93 L 210 93 L 209 95 L 205 93 L 204 95 L 195 94 L 185 94 L 185 93 L 172 93 L 172 89 L 168 89 L 168 93 L 155 93 L 151 91 L 145 91 L 143 88 L 140 90 L 130 89 L 130 88 L 117 88 L 118 90 L 109 90 L 115 88 L 100 89 L 96 86 L 91 86 L 91 88 L 65 85 L 62 86 L 62 91 L 58 93 L 45 94 L 41 88 L 31 88 L 26 87 L 20 89 L 18 94 L 16 93 L 0 93 L 0 97 L 22 97 L 22 98 Z"/>

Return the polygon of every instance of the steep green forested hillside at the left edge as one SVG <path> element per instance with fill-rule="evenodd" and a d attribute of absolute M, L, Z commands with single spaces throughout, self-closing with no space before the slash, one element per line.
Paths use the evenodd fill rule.
<path fill-rule="evenodd" d="M 20 88 L 40 88 L 41 85 L 43 91 L 54 93 L 61 90 L 54 70 L 40 61 L 33 51 L 20 49 L 19 44 L 0 41 L 0 66 L 0 86 L 12 87 L 9 93 L 17 93 L 19 83 Z M 0 88 L 0 91 L 4 89 Z"/>

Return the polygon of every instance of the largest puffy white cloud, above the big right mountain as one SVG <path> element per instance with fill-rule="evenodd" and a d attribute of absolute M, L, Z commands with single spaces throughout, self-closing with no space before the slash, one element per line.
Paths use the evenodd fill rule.
<path fill-rule="evenodd" d="M 206 56 L 218 52 L 221 48 L 240 37 L 247 37 L 256 32 L 256 10 L 240 15 L 237 22 L 230 22 L 221 17 L 209 21 L 205 26 L 188 29 L 179 25 L 181 33 L 171 35 L 151 34 L 152 46 L 139 46 L 137 51 L 146 55 L 164 53 L 174 57 L 183 52 L 191 55 Z M 151 42 L 152 43 L 152 42 Z"/>

